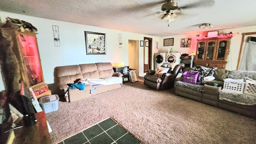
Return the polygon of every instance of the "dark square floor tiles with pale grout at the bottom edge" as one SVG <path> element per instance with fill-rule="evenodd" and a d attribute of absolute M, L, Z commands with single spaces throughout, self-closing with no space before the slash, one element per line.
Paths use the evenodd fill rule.
<path fill-rule="evenodd" d="M 111 118 L 62 140 L 59 144 L 142 144 Z"/>

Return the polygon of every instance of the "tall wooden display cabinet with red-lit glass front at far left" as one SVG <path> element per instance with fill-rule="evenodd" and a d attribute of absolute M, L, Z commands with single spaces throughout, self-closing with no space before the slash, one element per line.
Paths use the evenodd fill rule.
<path fill-rule="evenodd" d="M 44 76 L 36 40 L 36 32 L 20 32 L 16 28 L 1 28 L 3 34 L 8 34 L 12 41 L 12 52 L 18 60 L 20 77 L 28 87 L 31 87 L 36 98 L 51 95 L 48 85 L 44 83 Z M 8 66 L 11 66 L 9 64 Z M 9 68 L 10 69 L 10 68 Z M 11 70 L 11 69 L 10 69 Z M 8 74 L 4 74 L 8 76 Z"/>

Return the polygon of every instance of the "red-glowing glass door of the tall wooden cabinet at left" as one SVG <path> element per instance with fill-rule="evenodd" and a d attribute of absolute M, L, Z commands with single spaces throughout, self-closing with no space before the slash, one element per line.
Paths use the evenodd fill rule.
<path fill-rule="evenodd" d="M 34 36 L 26 36 L 19 34 L 19 41 L 22 46 L 24 64 L 28 74 L 30 86 L 34 86 L 43 82 L 41 65 Z"/>

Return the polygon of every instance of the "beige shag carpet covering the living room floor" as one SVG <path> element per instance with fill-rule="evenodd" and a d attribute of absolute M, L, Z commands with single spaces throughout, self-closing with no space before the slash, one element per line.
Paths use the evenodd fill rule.
<path fill-rule="evenodd" d="M 138 81 L 78 102 L 59 102 L 58 111 L 46 114 L 52 141 L 110 116 L 145 144 L 256 142 L 256 120 L 173 93 L 151 90 Z"/>

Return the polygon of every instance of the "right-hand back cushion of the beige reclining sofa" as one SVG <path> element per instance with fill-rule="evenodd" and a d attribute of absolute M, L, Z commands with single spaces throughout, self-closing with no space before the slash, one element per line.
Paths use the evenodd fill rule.
<path fill-rule="evenodd" d="M 109 76 L 113 76 L 114 70 L 113 66 L 110 62 L 99 62 L 95 63 L 100 74 L 100 78 L 106 78 Z"/>

